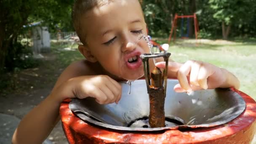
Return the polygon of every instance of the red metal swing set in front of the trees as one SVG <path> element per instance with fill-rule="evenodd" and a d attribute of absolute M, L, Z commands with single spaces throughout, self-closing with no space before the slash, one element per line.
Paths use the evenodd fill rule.
<path fill-rule="evenodd" d="M 197 40 L 197 32 L 199 31 L 199 27 L 198 27 L 198 21 L 197 21 L 197 16 L 194 13 L 194 15 L 187 15 L 187 16 L 178 16 L 178 14 L 175 14 L 174 20 L 173 20 L 173 24 L 171 27 L 171 33 L 170 36 L 168 38 L 168 43 L 171 42 L 171 37 L 173 35 L 173 31 L 174 31 L 174 35 L 173 35 L 173 41 L 175 41 L 176 39 L 176 28 L 177 28 L 177 21 L 178 19 L 181 19 L 181 38 L 188 38 L 189 37 L 189 22 L 190 22 L 190 18 L 193 18 L 194 20 L 194 26 L 195 26 L 195 39 Z M 187 34 L 183 34 L 183 28 L 184 28 L 184 18 L 187 18 Z"/>

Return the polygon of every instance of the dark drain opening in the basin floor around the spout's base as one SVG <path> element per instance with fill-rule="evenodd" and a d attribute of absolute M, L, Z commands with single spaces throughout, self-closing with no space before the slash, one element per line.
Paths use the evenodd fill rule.
<path fill-rule="evenodd" d="M 178 118 L 177 118 L 178 119 Z M 170 117 L 165 117 L 165 127 L 175 127 L 177 125 L 184 125 L 180 120 L 177 120 Z M 149 118 L 142 117 L 136 120 L 131 121 L 127 127 L 130 128 L 150 128 Z"/>

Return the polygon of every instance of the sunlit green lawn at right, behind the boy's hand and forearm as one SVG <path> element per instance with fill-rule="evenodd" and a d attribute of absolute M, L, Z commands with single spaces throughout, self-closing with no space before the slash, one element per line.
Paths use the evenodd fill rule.
<path fill-rule="evenodd" d="M 200 60 L 223 67 L 240 80 L 240 91 L 256 99 L 256 43 L 240 41 L 232 44 L 188 43 L 188 40 L 171 43 L 171 59 L 178 62 Z M 190 45 L 189 45 L 190 44 Z"/>

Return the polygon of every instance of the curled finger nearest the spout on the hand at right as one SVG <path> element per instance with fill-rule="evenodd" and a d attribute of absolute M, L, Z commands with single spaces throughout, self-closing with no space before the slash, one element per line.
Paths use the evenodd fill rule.
<path fill-rule="evenodd" d="M 193 61 L 187 61 L 185 64 L 181 66 L 181 68 L 177 72 L 177 78 L 179 80 L 181 88 L 185 89 L 188 92 L 192 91 L 192 88 L 190 87 L 189 82 L 187 80 L 187 75 L 189 75 L 192 63 Z"/>

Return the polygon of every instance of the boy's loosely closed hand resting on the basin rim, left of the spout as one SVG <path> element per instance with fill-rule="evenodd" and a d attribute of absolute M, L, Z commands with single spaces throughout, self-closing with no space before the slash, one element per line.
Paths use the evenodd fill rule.
<path fill-rule="evenodd" d="M 90 96 L 99 104 L 118 103 L 122 93 L 121 85 L 107 75 L 75 77 L 58 89 L 61 95 L 68 96 L 66 98 L 84 99 Z"/>

